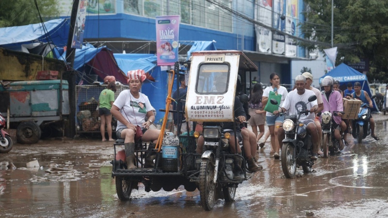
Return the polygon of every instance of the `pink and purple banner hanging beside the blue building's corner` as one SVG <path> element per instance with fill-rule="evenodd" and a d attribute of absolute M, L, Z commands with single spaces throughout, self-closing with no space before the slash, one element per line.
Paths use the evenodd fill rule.
<path fill-rule="evenodd" d="M 178 61 L 179 15 L 156 16 L 156 55 L 158 66 Z"/>

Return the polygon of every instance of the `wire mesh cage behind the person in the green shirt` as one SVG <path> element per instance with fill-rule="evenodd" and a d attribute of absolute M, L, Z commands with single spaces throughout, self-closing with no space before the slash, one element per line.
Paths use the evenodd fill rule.
<path fill-rule="evenodd" d="M 92 133 L 100 132 L 101 120 L 98 115 L 98 98 L 102 90 L 106 89 L 107 85 L 78 85 L 76 86 L 76 132 L 77 133 Z M 116 85 L 114 99 L 118 94 L 128 89 L 126 85 Z M 117 121 L 112 118 L 113 132 L 117 126 Z"/>

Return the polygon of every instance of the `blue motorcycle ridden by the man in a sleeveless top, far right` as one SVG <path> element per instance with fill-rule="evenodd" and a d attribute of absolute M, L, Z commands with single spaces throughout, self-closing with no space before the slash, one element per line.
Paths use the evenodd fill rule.
<path fill-rule="evenodd" d="M 347 95 L 351 96 L 350 94 Z M 371 99 L 374 99 L 375 97 L 376 95 L 373 95 Z M 358 110 L 357 119 L 352 122 L 352 136 L 359 144 L 361 144 L 362 140 L 371 134 L 371 124 L 369 122 L 370 118 L 371 108 L 368 104 L 362 103 L 360 109 Z"/>

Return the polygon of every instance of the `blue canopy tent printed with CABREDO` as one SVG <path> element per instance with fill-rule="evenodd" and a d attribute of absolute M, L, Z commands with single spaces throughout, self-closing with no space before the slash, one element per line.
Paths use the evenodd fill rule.
<path fill-rule="evenodd" d="M 369 88 L 369 82 L 368 78 L 365 74 L 362 74 L 352 67 L 341 63 L 336 68 L 331 70 L 329 73 L 325 74 L 323 77 L 319 79 L 319 83 L 322 82 L 322 79 L 326 76 L 331 76 L 334 78 L 334 80 L 339 81 L 339 86 L 341 89 L 342 87 L 345 87 L 346 85 L 351 82 L 353 85 L 355 82 L 361 83 L 361 89 L 366 91 L 369 96 L 372 96 L 371 89 Z M 343 89 L 344 90 L 344 89 Z M 376 106 L 376 102 L 372 100 L 373 102 L 373 109 L 371 111 L 378 111 L 378 108 Z"/>

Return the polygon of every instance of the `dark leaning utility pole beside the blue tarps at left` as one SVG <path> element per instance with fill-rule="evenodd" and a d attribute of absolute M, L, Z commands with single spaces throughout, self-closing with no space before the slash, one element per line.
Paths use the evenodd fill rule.
<path fill-rule="evenodd" d="M 73 138 L 76 135 L 76 73 L 73 70 L 74 65 L 74 57 L 76 50 L 71 47 L 73 35 L 74 35 L 74 27 L 77 18 L 78 12 L 78 4 L 80 0 L 73 1 L 73 7 L 71 9 L 70 16 L 70 30 L 69 36 L 67 39 L 67 48 L 66 48 L 66 62 L 67 62 L 67 81 L 69 83 L 69 106 L 70 106 L 70 115 L 69 115 L 69 128 L 66 136 L 69 138 Z"/>

